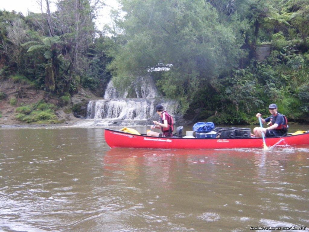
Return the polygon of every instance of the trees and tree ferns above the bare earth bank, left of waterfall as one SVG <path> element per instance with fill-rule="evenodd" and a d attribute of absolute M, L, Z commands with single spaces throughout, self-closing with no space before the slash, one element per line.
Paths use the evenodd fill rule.
<path fill-rule="evenodd" d="M 57 94 L 63 90 L 75 91 L 80 83 L 74 79 L 75 73 L 88 75 L 89 81 L 95 80 L 95 84 L 90 85 L 98 87 L 107 73 L 102 57 L 107 57 L 108 51 L 99 47 L 95 50 L 95 64 L 101 76 L 90 70 L 85 75 L 85 70 L 93 67 L 93 59 L 90 57 L 88 60 L 87 49 L 100 46 L 99 41 L 96 43 L 94 40 L 94 19 L 100 3 L 90 5 L 88 0 L 58 1 L 57 11 L 53 15 L 31 13 L 24 17 L 0 11 L 0 39 L 3 43 L 3 46 L 0 45 L 1 75 L 18 72 L 35 81 L 36 87 Z M 49 25 L 42 18 L 47 18 Z M 88 81 L 84 83 L 87 87 Z"/>

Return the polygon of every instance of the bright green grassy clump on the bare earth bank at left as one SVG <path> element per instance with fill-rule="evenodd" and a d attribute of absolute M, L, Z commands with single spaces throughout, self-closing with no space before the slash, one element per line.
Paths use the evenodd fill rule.
<path fill-rule="evenodd" d="M 37 102 L 31 105 L 24 105 L 16 108 L 15 118 L 21 122 L 50 124 L 60 123 L 55 110 L 57 106 L 45 102 Z"/>

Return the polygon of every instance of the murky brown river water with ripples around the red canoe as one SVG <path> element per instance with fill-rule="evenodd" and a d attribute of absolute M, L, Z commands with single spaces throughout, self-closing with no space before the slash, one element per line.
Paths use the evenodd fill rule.
<path fill-rule="evenodd" d="M 309 145 L 111 149 L 103 128 L 0 129 L 0 231 L 307 227 Z"/>

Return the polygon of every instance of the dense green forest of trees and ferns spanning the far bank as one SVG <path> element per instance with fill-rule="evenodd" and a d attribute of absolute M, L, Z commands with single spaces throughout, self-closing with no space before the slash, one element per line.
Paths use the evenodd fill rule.
<path fill-rule="evenodd" d="M 104 92 L 112 78 L 128 89 L 151 73 L 187 117 L 250 124 L 276 103 L 289 121 L 309 122 L 307 0 L 121 0 L 102 31 L 104 2 L 57 0 L 55 12 L 43 3 L 40 14 L 0 11 L 0 81 L 27 82 L 65 105 L 80 87 Z M 271 52 L 261 61 L 263 44 Z M 33 106 L 11 101 L 29 122 Z"/>

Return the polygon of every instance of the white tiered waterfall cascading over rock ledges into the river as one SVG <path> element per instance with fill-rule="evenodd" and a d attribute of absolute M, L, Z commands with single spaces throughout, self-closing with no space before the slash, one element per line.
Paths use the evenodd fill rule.
<path fill-rule="evenodd" d="M 162 104 L 169 114 L 176 114 L 176 101 L 161 100 L 151 77 L 144 78 L 139 85 L 134 85 L 136 98 L 126 98 L 128 92 L 119 93 L 110 81 L 103 100 L 89 101 L 87 119 L 78 123 L 80 126 L 137 126 L 150 125 L 159 120 L 155 105 Z M 158 98 L 159 97 L 159 98 Z"/>

